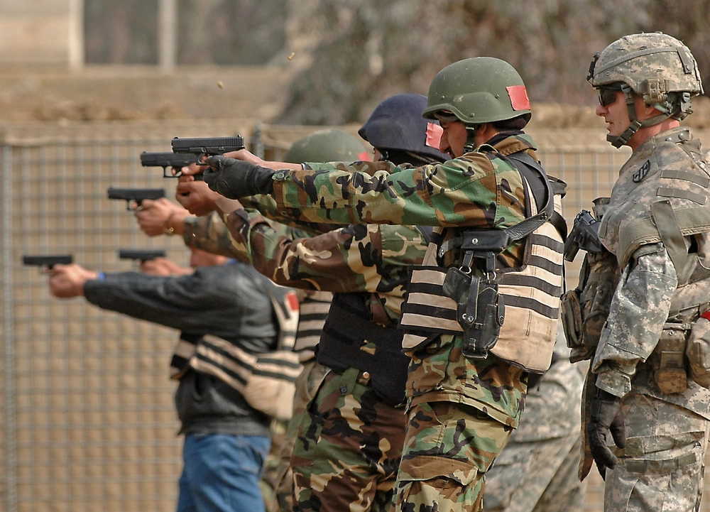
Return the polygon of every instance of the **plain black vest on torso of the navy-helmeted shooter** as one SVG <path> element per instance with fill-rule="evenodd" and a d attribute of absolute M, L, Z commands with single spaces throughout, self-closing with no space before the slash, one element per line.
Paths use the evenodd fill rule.
<path fill-rule="evenodd" d="M 383 326 L 369 320 L 366 293 L 334 294 L 323 327 L 316 360 L 335 371 L 356 368 L 367 372 L 372 388 L 390 405 L 405 400 L 410 358 L 402 352 L 403 333 L 396 325 Z M 371 342 L 372 352 L 364 349 Z"/>

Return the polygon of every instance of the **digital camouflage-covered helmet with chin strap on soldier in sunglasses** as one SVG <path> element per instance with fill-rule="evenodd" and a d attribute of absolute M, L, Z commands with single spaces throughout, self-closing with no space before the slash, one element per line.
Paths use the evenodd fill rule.
<path fill-rule="evenodd" d="M 587 81 L 596 89 L 623 91 L 626 96 L 628 129 L 620 136 L 607 136 L 616 148 L 626 144 L 638 129 L 669 117 L 685 119 L 692 114 L 691 97 L 702 94 L 697 62 L 681 41 L 661 32 L 624 36 L 596 53 Z M 645 104 L 662 114 L 645 121 L 636 119 L 635 92 Z"/>

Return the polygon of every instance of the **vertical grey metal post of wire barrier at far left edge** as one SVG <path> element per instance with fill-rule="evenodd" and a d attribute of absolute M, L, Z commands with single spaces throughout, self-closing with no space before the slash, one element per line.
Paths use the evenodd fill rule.
<path fill-rule="evenodd" d="M 3 146 L 2 163 L 2 268 L 3 268 L 3 338 L 5 348 L 5 442 L 7 511 L 17 511 L 17 445 L 15 389 L 15 330 L 13 311 L 12 261 L 12 147 Z"/>

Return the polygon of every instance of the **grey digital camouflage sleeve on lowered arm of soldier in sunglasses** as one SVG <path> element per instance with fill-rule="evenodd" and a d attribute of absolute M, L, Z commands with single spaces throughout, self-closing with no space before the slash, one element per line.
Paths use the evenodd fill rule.
<path fill-rule="evenodd" d="M 631 390 L 639 361 L 660 339 L 678 279 L 662 244 L 642 246 L 623 271 L 601 331 L 592 368 L 596 387 L 616 396 Z"/>

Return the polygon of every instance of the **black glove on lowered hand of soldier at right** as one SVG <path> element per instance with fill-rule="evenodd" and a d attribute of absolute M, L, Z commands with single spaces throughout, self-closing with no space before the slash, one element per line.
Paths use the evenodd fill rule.
<path fill-rule="evenodd" d="M 616 466 L 618 459 L 606 446 L 606 435 L 611 432 L 614 444 L 619 448 L 626 446 L 623 414 L 621 414 L 621 398 L 601 389 L 596 390 L 596 396 L 591 400 L 591 417 L 586 425 L 586 435 L 589 439 L 589 450 L 594 457 L 596 468 L 601 478 L 606 476 L 606 468 Z"/>

